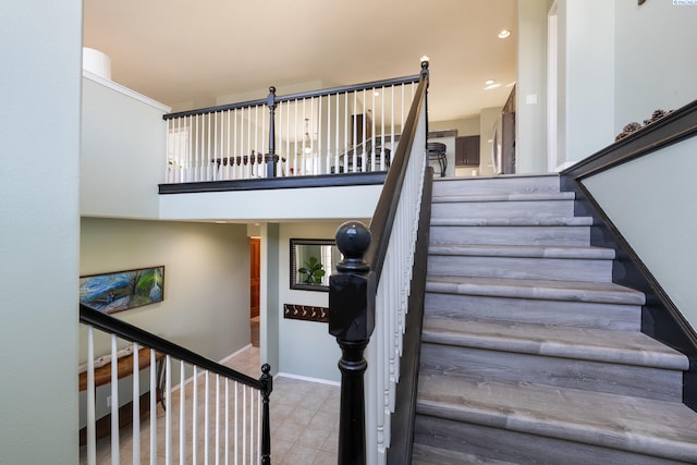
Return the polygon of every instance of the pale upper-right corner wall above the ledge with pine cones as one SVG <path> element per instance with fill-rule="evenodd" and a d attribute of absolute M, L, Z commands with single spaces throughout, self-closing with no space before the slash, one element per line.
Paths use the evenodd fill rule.
<path fill-rule="evenodd" d="M 615 1 L 614 134 L 697 99 L 697 7 Z"/>

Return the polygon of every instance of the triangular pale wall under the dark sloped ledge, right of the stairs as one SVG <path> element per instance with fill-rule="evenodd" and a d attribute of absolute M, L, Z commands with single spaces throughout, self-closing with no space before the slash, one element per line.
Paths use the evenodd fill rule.
<path fill-rule="evenodd" d="M 624 163 L 584 185 L 697 329 L 697 137 Z"/>

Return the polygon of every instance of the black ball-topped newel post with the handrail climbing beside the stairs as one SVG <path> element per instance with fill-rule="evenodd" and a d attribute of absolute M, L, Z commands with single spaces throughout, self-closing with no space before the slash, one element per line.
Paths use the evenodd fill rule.
<path fill-rule="evenodd" d="M 392 166 L 378 199 L 370 229 L 348 221 L 337 231 L 337 246 L 344 258 L 329 280 L 329 333 L 341 348 L 341 406 L 339 419 L 340 465 L 364 465 L 367 458 L 364 357 L 375 329 L 376 291 L 396 218 L 402 187 L 417 136 L 418 119 L 427 108 L 428 61 L 421 73 Z M 428 118 L 428 115 L 426 117 Z M 428 124 L 426 124 L 428 133 Z M 426 146 L 421 147 L 426 150 Z M 426 167 L 423 167 L 426 170 Z"/>

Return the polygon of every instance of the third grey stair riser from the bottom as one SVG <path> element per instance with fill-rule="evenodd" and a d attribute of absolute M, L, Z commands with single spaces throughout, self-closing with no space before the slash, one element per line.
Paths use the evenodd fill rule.
<path fill-rule="evenodd" d="M 641 307 L 573 301 L 490 297 L 427 292 L 426 314 L 468 320 L 514 321 L 639 331 Z"/>

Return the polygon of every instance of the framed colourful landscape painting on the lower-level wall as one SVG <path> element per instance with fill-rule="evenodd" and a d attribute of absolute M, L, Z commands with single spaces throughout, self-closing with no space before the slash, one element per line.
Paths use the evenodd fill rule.
<path fill-rule="evenodd" d="M 80 303 L 107 314 L 162 302 L 164 266 L 80 278 Z"/>

